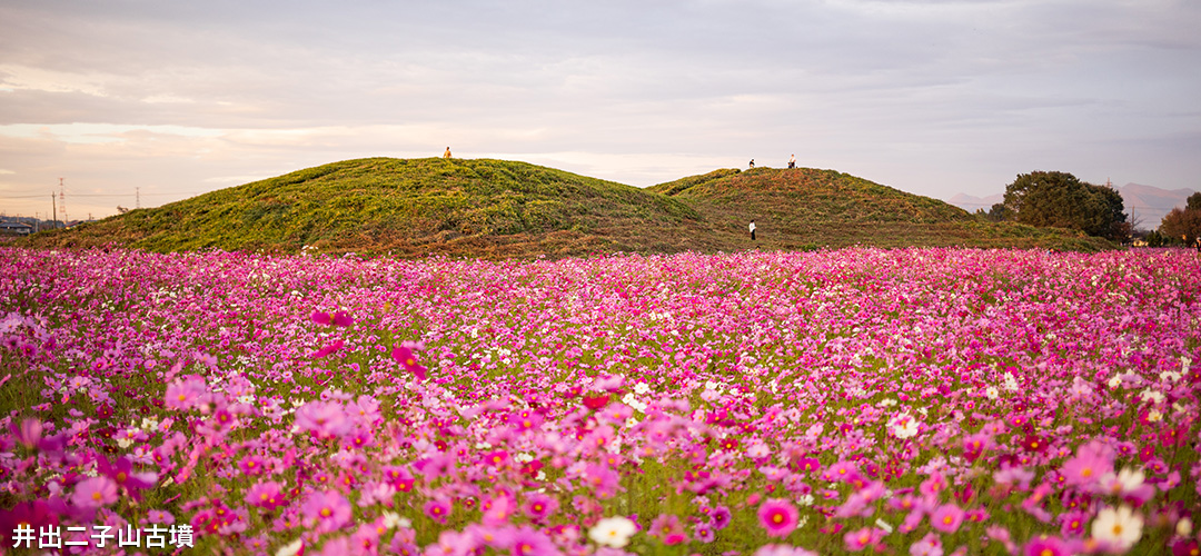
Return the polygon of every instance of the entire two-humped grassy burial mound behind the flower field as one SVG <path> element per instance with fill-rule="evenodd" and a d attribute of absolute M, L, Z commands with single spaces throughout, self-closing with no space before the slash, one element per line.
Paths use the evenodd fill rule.
<path fill-rule="evenodd" d="M 644 190 L 525 162 L 461 159 L 336 162 L 18 244 L 486 258 L 854 244 L 1110 246 L 1066 231 L 984 222 L 833 171 L 719 169 Z"/>

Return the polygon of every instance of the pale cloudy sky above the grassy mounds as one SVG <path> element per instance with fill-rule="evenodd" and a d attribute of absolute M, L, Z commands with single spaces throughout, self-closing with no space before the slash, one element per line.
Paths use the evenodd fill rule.
<path fill-rule="evenodd" d="M 157 207 L 370 156 L 634 186 L 831 168 L 1201 190 L 1195 0 L 0 0 L 0 210 Z M 58 207 L 61 217 L 62 207 Z"/>

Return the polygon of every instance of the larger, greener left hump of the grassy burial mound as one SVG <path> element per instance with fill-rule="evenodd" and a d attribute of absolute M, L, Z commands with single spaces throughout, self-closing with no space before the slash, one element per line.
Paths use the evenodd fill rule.
<path fill-rule="evenodd" d="M 363 159 L 303 169 L 36 238 L 35 245 L 474 257 L 680 251 L 683 203 L 524 162 Z"/>

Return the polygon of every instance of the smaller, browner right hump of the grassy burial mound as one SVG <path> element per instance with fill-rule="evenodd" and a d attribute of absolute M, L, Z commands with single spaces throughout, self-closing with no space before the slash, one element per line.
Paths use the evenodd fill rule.
<path fill-rule="evenodd" d="M 718 169 L 647 190 L 695 209 L 723 241 L 746 238 L 754 220 L 765 249 L 1112 246 L 1070 231 L 981 221 L 942 201 L 829 169 Z"/>

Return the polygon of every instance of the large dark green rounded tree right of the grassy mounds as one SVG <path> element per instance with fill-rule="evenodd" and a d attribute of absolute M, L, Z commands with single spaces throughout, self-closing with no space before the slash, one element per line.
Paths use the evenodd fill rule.
<path fill-rule="evenodd" d="M 1130 234 L 1117 190 L 1081 181 L 1065 172 L 1018 174 L 1005 187 L 1004 209 L 1012 220 L 1030 226 L 1078 229 L 1112 240 Z M 996 207 L 993 210 L 1003 214 Z"/>

